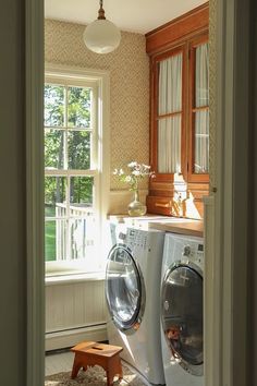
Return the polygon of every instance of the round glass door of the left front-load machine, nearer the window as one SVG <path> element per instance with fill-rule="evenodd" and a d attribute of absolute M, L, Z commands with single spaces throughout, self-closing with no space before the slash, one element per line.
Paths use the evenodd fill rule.
<path fill-rule="evenodd" d="M 143 312 L 143 278 L 125 245 L 112 248 L 106 269 L 106 298 L 115 326 L 123 330 L 139 327 Z"/>

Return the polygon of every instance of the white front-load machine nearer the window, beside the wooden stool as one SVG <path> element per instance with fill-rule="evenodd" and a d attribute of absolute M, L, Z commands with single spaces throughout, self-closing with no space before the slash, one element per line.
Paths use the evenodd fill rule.
<path fill-rule="evenodd" d="M 108 339 L 149 383 L 164 384 L 160 342 L 161 260 L 164 232 L 127 228 L 108 256 Z"/>

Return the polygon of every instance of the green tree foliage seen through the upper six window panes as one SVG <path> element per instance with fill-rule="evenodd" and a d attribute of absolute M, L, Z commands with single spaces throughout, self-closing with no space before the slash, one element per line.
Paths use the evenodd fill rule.
<path fill-rule="evenodd" d="M 68 100 L 68 117 L 65 104 Z M 45 167 L 62 170 L 87 170 L 90 168 L 91 91 L 85 87 L 46 84 L 45 86 Z M 71 129 L 63 130 L 64 122 Z M 64 148 L 68 145 L 65 154 Z M 66 159 L 65 159 L 66 156 Z M 91 203 L 93 179 L 71 178 L 73 203 Z M 66 181 L 63 177 L 48 177 L 45 180 L 45 202 L 49 206 L 65 200 Z"/>

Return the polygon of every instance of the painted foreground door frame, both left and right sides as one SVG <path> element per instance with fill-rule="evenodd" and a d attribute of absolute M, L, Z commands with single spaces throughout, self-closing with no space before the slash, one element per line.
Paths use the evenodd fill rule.
<path fill-rule="evenodd" d="M 212 0 L 216 2 L 216 0 Z M 254 2 L 253 2 L 254 3 Z M 207 198 L 206 386 L 247 384 L 248 55 L 250 0 L 217 1 L 217 184 Z M 253 5 L 254 7 L 254 5 Z M 44 0 L 25 0 L 27 382 L 44 385 Z M 241 59 L 244 58 L 244 61 Z M 246 130 L 242 130 L 246 128 Z M 233 197 L 233 200 L 231 198 Z M 243 203 L 243 204 L 242 204 Z M 212 213 L 212 215 L 211 215 Z M 210 215 L 210 216 L 209 216 Z M 208 246 L 209 245 L 209 246 Z M 209 281 L 208 281 L 209 280 Z M 210 281 L 211 280 L 211 281 Z M 240 280 L 240 286 L 238 286 Z M 210 319 L 215 317 L 216 324 Z M 240 347 L 240 350 L 234 350 Z M 245 360 L 242 360 L 245 358 Z"/>

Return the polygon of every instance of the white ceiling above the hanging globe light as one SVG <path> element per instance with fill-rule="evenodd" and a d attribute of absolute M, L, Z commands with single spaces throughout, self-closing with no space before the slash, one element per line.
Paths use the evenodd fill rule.
<path fill-rule="evenodd" d="M 106 17 L 120 29 L 146 34 L 206 0 L 103 0 Z M 45 0 L 45 16 L 89 24 L 98 16 L 99 0 Z"/>

